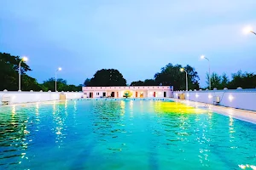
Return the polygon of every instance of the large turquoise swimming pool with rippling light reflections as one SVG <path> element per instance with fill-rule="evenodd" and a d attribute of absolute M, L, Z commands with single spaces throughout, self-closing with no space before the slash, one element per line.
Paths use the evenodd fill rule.
<path fill-rule="evenodd" d="M 0 118 L 0 169 L 256 166 L 255 124 L 172 101 L 3 106 Z"/>

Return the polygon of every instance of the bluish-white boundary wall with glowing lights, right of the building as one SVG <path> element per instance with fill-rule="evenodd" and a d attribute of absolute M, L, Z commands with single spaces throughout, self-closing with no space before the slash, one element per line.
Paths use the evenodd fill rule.
<path fill-rule="evenodd" d="M 174 98 L 178 94 L 185 94 L 185 98 L 191 101 L 198 101 L 213 104 L 216 96 L 220 97 L 219 105 L 256 111 L 256 89 L 236 89 L 236 90 L 210 90 L 210 91 L 189 91 L 173 92 Z"/>

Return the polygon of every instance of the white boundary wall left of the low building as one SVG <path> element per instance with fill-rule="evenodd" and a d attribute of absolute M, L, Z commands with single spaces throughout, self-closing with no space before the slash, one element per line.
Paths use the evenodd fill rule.
<path fill-rule="evenodd" d="M 0 105 L 4 97 L 10 97 L 10 104 L 51 101 L 60 99 L 60 94 L 66 94 L 66 99 L 79 99 L 82 92 L 0 92 Z"/>

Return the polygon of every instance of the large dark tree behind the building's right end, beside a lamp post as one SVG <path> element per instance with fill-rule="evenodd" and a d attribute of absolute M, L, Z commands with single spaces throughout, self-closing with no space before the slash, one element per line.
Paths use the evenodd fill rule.
<path fill-rule="evenodd" d="M 184 72 L 180 71 L 181 68 L 184 68 L 188 72 L 189 89 L 199 88 L 199 77 L 195 68 L 190 65 L 183 67 L 182 65 L 172 65 L 171 63 L 161 68 L 161 71 L 154 75 L 156 84 L 173 86 L 175 90 L 185 89 L 186 76 Z"/>

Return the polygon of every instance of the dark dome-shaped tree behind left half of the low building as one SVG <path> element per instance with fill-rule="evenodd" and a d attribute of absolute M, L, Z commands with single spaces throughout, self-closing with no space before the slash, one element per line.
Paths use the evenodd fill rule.
<path fill-rule="evenodd" d="M 126 86 L 123 75 L 115 69 L 102 69 L 96 71 L 94 77 L 90 79 L 90 87 Z"/>

